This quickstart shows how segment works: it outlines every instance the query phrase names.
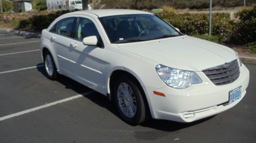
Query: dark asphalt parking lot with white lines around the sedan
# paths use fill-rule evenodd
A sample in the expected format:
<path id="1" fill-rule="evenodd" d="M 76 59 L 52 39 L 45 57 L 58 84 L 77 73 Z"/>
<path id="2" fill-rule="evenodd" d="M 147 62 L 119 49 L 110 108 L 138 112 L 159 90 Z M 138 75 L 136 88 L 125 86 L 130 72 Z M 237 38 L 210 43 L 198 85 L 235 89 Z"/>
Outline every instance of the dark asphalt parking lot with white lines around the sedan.
<path id="1" fill-rule="evenodd" d="M 256 142 L 256 65 L 246 66 L 247 94 L 232 109 L 130 126 L 99 93 L 64 76 L 49 80 L 38 38 L 0 34 L 0 142 Z"/>

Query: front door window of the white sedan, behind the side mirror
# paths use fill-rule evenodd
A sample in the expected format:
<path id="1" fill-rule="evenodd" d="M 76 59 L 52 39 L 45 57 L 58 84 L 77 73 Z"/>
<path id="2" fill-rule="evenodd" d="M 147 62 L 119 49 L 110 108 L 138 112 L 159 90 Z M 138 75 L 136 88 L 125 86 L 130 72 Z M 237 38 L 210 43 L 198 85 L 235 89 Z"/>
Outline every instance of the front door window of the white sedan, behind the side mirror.
<path id="1" fill-rule="evenodd" d="M 86 18 L 79 18 L 76 26 L 75 39 L 82 41 L 84 37 L 96 36 L 100 39 L 98 30 L 94 23 Z"/>

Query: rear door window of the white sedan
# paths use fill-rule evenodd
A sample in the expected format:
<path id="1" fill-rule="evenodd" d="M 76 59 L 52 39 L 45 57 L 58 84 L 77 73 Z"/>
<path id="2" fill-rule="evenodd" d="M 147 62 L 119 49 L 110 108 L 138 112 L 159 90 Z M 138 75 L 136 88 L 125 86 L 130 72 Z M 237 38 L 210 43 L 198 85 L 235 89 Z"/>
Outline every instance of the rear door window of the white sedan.
<path id="1" fill-rule="evenodd" d="M 71 37 L 75 17 L 65 18 L 58 22 L 57 34 Z"/>

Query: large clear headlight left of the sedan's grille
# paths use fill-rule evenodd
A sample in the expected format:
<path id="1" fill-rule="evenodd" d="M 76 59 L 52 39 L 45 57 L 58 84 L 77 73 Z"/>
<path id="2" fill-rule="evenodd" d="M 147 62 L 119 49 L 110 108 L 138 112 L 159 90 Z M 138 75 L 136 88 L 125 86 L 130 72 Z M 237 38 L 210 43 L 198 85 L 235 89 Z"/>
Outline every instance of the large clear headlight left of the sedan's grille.
<path id="1" fill-rule="evenodd" d="M 160 78 L 169 86 L 175 89 L 185 89 L 191 84 L 201 83 L 201 78 L 192 71 L 178 70 L 174 68 L 157 65 L 156 71 Z"/>

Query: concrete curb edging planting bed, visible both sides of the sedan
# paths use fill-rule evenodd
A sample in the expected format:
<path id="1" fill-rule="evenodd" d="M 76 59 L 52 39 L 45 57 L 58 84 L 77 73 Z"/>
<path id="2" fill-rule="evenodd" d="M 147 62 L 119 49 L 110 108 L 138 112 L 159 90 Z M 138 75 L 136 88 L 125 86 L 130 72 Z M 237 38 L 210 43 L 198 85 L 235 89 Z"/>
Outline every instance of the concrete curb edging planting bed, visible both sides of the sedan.
<path id="1" fill-rule="evenodd" d="M 0 33 L 2 34 L 17 34 L 20 36 L 30 37 L 30 38 L 39 38 L 41 36 L 40 33 L 32 33 L 26 31 L 16 31 L 5 28 L 0 28 Z M 256 57 L 251 56 L 240 56 L 242 63 L 244 64 L 256 64 Z"/>

